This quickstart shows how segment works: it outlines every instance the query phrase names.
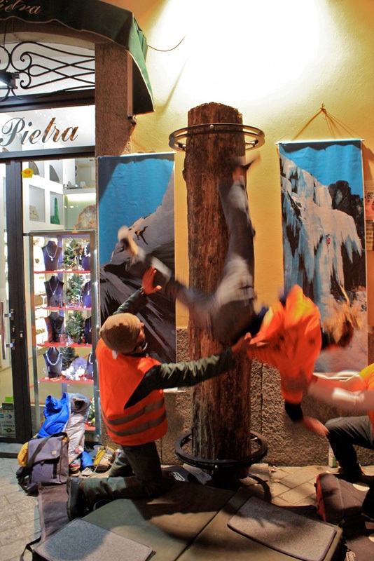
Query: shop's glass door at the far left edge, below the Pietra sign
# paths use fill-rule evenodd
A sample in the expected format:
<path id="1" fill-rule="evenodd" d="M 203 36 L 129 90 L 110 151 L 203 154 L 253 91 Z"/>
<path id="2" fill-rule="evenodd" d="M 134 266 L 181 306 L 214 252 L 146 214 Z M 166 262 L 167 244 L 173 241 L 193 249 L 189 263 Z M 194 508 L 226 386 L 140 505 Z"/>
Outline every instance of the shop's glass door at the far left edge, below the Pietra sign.
<path id="1" fill-rule="evenodd" d="M 0 441 L 24 442 L 32 435 L 27 372 L 26 308 L 23 286 L 21 164 L 0 165 L 1 369 Z"/>

